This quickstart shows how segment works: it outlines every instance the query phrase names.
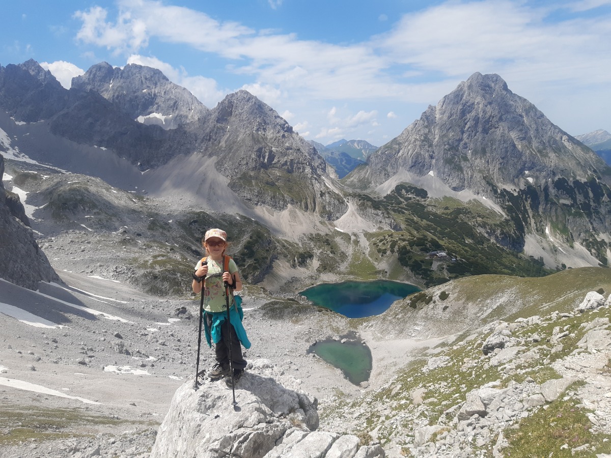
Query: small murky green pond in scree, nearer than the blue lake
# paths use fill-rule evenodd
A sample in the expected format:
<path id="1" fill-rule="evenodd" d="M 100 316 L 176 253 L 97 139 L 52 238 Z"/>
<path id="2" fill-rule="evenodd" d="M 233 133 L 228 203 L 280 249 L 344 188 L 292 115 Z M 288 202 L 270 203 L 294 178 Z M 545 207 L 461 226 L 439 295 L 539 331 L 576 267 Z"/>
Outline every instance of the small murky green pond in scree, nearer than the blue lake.
<path id="1" fill-rule="evenodd" d="M 354 332 L 340 336 L 340 340 L 329 338 L 318 341 L 310 346 L 308 353 L 318 355 L 327 363 L 340 369 L 346 379 L 354 385 L 369 380 L 371 375 L 373 364 L 371 351 Z"/>

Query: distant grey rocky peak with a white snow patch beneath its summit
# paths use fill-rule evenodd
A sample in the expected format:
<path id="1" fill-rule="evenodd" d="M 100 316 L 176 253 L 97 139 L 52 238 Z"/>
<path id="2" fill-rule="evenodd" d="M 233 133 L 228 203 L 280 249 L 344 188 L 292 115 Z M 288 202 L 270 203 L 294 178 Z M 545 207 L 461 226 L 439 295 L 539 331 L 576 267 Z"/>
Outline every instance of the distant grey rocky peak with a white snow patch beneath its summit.
<path id="1" fill-rule="evenodd" d="M 197 122 L 208 112 L 184 87 L 171 82 L 160 70 L 142 65 L 119 68 L 101 62 L 73 78 L 72 87 L 97 92 L 133 120 L 164 129 Z"/>

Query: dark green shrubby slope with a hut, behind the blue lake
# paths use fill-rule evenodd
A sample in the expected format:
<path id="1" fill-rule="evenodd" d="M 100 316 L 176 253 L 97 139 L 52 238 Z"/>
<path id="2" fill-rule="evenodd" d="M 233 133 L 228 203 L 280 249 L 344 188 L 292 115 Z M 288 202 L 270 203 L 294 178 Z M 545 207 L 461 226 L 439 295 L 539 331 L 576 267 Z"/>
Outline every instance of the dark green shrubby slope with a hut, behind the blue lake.
<path id="1" fill-rule="evenodd" d="M 513 218 L 504 218 L 475 200 L 425 198 L 426 191 L 406 184 L 398 185 L 382 200 L 358 197 L 403 228 L 376 234 L 370 239 L 372 251 L 381 260 L 396 256 L 400 266 L 425 286 L 467 275 L 541 277 L 552 273 L 541 259 L 521 255 L 525 243 L 522 217 L 528 217 L 522 206 L 510 212 Z"/>

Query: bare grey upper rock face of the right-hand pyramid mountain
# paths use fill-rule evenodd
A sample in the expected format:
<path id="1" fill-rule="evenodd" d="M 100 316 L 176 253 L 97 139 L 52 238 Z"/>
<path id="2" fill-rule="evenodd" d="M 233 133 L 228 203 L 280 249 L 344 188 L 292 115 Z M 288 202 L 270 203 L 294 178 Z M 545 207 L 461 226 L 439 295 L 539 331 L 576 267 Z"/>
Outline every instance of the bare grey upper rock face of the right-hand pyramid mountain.
<path id="1" fill-rule="evenodd" d="M 552 124 L 498 75 L 475 73 L 430 106 L 369 161 L 374 183 L 403 168 L 433 172 L 453 190 L 516 189 L 558 175 L 587 181 L 606 172 L 588 148 Z"/>

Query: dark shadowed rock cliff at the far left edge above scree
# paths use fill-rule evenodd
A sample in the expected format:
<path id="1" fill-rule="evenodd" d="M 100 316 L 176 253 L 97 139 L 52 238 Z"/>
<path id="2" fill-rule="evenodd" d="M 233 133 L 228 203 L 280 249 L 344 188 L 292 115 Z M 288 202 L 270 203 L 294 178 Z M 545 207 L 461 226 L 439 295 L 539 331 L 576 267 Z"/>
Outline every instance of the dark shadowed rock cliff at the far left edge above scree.
<path id="1" fill-rule="evenodd" d="M 0 154 L 2 175 L 4 158 Z M 19 198 L 16 195 L 7 198 L 0 180 L 0 278 L 29 289 L 36 289 L 40 281 L 61 282 L 23 219 L 27 217 Z"/>

